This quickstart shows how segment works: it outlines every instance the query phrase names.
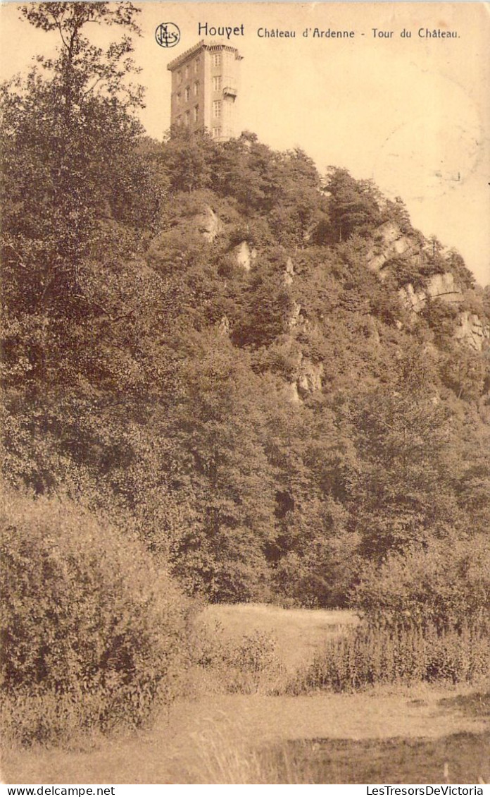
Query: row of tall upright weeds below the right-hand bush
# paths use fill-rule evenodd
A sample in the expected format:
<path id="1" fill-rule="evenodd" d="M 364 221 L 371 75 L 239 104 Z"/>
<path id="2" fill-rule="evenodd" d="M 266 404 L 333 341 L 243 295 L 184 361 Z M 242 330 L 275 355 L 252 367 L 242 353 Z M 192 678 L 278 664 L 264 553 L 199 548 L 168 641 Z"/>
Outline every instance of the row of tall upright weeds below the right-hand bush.
<path id="1" fill-rule="evenodd" d="M 379 684 L 420 681 L 479 681 L 490 674 L 490 638 L 465 629 L 438 633 L 422 629 L 360 627 L 333 640 L 289 685 L 294 693 L 311 689 L 348 692 Z"/>

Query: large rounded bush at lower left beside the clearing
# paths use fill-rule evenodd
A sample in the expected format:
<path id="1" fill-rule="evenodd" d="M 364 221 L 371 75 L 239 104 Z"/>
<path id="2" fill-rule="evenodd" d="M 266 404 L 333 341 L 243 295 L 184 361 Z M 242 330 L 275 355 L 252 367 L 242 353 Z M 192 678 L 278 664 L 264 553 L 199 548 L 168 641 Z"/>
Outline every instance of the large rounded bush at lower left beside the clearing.
<path id="1" fill-rule="evenodd" d="M 7 733 L 29 743 L 138 727 L 178 692 L 189 603 L 138 541 L 90 512 L 1 499 Z"/>

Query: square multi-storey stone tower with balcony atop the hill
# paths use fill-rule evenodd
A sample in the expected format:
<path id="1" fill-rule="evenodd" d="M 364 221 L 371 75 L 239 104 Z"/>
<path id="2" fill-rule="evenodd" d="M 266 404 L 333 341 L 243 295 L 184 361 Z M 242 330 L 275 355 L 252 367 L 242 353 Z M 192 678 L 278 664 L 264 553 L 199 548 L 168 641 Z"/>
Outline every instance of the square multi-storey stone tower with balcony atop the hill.
<path id="1" fill-rule="evenodd" d="M 238 50 L 220 41 L 200 41 L 170 61 L 170 124 L 182 125 L 191 132 L 208 130 L 217 141 L 239 135 L 240 61 Z"/>

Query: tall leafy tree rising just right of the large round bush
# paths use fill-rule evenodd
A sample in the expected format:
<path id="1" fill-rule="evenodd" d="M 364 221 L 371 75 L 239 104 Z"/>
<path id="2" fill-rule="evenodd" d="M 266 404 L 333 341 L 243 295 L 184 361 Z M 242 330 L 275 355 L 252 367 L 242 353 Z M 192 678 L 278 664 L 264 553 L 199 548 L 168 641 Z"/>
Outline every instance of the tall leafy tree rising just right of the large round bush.
<path id="1" fill-rule="evenodd" d="M 212 601 L 263 599 L 274 473 L 263 445 L 261 383 L 219 333 L 198 346 L 179 371 L 177 406 L 154 418 L 165 441 L 162 479 L 194 519 L 171 541 L 173 572 Z"/>

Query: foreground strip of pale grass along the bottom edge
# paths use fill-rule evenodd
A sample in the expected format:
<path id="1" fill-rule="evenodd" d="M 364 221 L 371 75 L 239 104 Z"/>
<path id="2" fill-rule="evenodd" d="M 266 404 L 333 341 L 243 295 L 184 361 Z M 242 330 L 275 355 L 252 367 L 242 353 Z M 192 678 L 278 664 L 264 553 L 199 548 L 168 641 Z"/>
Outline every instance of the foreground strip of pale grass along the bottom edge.
<path id="1" fill-rule="evenodd" d="M 431 770 L 434 779 L 428 782 L 441 782 L 439 764 L 445 760 L 453 777 L 463 765 L 466 772 L 472 764 L 470 781 L 476 782 L 480 775 L 487 779 L 480 766 L 488 752 L 483 736 L 488 732 L 486 717 L 463 711 L 458 701 L 472 701 L 471 693 L 417 687 L 399 693 L 375 689 L 301 697 L 235 694 L 177 701 L 151 731 L 101 740 L 92 749 L 8 750 L 4 779 L 10 783 L 379 783 L 395 753 L 399 761 L 409 756 L 411 769 L 401 769 L 407 779 L 394 782 L 420 782 L 417 771 L 428 771 L 432 760 L 438 763 Z M 461 756 L 452 741 L 457 738 L 467 740 L 461 743 Z M 449 753 L 452 757 L 445 757 Z M 323 766 L 324 757 L 329 767 Z M 356 762 L 350 775 L 349 760 Z M 373 761 L 378 769 L 373 779 L 364 779 Z M 344 781 L 347 776 L 352 779 Z"/>

